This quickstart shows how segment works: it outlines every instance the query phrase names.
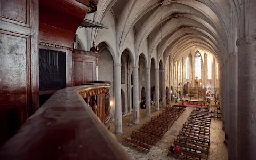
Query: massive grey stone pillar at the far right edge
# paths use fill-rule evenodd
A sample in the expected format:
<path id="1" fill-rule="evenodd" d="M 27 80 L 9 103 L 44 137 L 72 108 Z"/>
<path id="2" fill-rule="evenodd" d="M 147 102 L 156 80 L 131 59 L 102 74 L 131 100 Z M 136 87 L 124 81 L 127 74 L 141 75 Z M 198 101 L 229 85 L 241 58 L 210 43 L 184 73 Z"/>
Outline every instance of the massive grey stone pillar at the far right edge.
<path id="1" fill-rule="evenodd" d="M 237 159 L 249 160 L 256 151 L 256 35 L 238 39 L 237 47 Z"/>

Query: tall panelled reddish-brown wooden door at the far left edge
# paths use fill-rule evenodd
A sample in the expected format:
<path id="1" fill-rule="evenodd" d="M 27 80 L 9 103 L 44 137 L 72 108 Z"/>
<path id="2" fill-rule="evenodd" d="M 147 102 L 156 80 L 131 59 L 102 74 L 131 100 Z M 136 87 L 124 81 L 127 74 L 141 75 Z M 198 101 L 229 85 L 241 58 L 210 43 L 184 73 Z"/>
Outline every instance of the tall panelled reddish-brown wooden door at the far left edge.
<path id="1" fill-rule="evenodd" d="M 0 0 L 0 146 L 39 107 L 38 0 Z"/>

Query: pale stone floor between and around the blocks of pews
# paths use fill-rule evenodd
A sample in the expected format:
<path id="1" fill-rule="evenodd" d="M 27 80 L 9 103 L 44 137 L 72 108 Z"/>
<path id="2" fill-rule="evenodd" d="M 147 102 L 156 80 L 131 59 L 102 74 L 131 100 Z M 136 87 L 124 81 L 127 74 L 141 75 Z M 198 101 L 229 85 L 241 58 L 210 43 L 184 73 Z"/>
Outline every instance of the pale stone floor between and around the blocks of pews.
<path id="1" fill-rule="evenodd" d="M 113 133 L 113 137 L 121 144 L 122 148 L 127 151 L 132 159 L 141 160 L 159 160 L 159 159 L 174 159 L 167 156 L 168 147 L 174 142 L 176 135 L 179 134 L 181 127 L 186 122 L 187 117 L 190 115 L 192 107 L 188 107 L 182 115 L 177 119 L 177 121 L 171 126 L 171 128 L 164 134 L 163 138 L 156 143 L 156 145 L 150 149 L 149 152 L 142 151 L 140 149 L 134 148 L 132 146 L 123 143 L 123 138 L 130 138 L 132 131 L 137 131 L 137 129 L 144 123 L 150 121 L 151 117 L 156 116 L 160 111 L 151 111 L 151 117 L 146 116 L 146 109 L 140 109 L 140 123 L 132 124 L 133 114 L 126 115 L 122 118 L 122 135 L 115 135 L 115 123 L 113 122 L 110 127 L 110 132 Z M 130 125 L 132 124 L 132 125 Z M 224 132 L 222 130 L 222 121 L 219 119 L 213 119 L 211 121 L 210 130 L 210 154 L 209 160 L 226 160 L 228 159 L 228 150 L 224 145 Z"/>

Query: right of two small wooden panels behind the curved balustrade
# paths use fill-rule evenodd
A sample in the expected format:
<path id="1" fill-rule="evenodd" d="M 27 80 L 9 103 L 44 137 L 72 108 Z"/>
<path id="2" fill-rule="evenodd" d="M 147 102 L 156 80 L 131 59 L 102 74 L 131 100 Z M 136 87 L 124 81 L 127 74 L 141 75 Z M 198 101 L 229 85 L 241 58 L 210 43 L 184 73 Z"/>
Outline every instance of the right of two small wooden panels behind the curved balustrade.
<path id="1" fill-rule="evenodd" d="M 93 82 L 93 75 L 95 74 L 94 68 L 96 68 L 96 66 L 93 64 L 93 62 L 84 62 L 84 83 Z"/>

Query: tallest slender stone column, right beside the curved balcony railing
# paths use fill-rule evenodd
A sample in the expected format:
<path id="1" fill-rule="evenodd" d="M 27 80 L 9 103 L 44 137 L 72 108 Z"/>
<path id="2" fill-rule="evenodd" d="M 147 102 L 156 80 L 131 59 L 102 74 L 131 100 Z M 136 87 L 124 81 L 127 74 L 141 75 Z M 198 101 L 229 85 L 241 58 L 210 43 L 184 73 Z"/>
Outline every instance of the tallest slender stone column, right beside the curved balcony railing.
<path id="1" fill-rule="evenodd" d="M 122 134 L 121 64 L 114 65 L 115 133 Z"/>

